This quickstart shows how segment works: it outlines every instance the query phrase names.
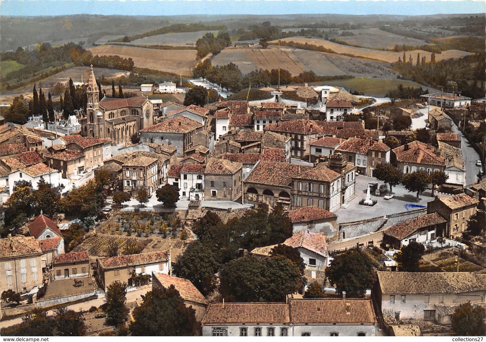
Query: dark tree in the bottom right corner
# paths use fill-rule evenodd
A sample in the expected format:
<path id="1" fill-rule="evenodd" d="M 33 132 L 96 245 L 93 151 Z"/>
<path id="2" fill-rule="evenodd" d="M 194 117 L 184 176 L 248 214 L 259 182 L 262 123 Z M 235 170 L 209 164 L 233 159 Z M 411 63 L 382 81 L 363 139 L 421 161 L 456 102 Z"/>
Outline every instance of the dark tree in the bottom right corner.
<path id="1" fill-rule="evenodd" d="M 485 309 L 481 305 L 461 304 L 452 315 L 451 326 L 454 336 L 486 335 Z"/>

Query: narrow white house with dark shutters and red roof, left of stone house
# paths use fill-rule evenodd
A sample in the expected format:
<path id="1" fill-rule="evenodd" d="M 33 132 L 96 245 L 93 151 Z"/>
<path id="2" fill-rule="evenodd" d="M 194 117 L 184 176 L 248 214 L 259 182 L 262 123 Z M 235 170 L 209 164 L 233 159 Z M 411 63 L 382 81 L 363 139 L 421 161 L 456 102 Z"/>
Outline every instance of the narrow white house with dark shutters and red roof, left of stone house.
<path id="1" fill-rule="evenodd" d="M 204 170 L 206 165 L 184 164 L 180 171 L 179 198 L 204 200 Z"/>

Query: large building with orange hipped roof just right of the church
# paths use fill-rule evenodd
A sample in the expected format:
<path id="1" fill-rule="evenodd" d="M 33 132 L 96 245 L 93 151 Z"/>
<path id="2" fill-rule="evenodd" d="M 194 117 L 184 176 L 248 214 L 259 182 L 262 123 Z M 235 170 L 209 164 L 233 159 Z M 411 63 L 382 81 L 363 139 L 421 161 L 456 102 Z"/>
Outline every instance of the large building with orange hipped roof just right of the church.
<path id="1" fill-rule="evenodd" d="M 171 144 L 177 147 L 177 156 L 192 146 L 192 136 L 203 130 L 203 125 L 184 116 L 174 117 L 140 130 L 140 141 Z"/>

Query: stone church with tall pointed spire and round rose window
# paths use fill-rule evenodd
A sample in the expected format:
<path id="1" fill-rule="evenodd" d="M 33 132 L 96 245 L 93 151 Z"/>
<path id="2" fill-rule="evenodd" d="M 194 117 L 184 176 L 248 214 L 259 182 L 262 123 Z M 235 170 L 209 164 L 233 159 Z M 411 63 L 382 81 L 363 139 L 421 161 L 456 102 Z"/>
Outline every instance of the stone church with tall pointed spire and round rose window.
<path id="1" fill-rule="evenodd" d="M 130 142 L 140 129 L 154 124 L 154 106 L 144 96 L 99 100 L 99 88 L 91 65 L 87 83 L 87 113 L 81 118 L 81 135 L 108 138 L 111 143 Z"/>

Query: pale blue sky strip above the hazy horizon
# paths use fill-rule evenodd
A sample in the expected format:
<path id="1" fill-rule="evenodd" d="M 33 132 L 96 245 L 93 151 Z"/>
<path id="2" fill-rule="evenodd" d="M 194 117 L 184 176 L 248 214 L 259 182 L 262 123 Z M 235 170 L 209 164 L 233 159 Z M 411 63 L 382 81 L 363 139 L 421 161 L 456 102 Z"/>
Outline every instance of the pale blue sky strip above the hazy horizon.
<path id="1" fill-rule="evenodd" d="M 3 16 L 195 14 L 392 14 L 485 13 L 483 0 L 1 0 Z"/>

